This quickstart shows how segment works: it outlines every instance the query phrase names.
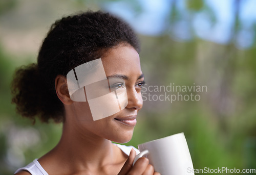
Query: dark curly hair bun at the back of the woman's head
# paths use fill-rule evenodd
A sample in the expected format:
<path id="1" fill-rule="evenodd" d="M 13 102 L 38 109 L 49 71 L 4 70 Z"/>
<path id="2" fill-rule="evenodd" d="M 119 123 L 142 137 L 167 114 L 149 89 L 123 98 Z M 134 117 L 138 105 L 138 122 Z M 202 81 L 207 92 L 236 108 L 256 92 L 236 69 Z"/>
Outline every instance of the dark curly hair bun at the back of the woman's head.
<path id="1" fill-rule="evenodd" d="M 35 121 L 38 116 L 41 121 L 48 122 L 50 118 L 61 121 L 62 118 L 52 117 L 46 102 L 51 102 L 51 94 L 46 90 L 44 81 L 40 77 L 37 64 L 30 64 L 18 68 L 12 81 L 12 103 L 16 104 L 17 112 Z M 51 111 L 53 112 L 53 111 Z"/>

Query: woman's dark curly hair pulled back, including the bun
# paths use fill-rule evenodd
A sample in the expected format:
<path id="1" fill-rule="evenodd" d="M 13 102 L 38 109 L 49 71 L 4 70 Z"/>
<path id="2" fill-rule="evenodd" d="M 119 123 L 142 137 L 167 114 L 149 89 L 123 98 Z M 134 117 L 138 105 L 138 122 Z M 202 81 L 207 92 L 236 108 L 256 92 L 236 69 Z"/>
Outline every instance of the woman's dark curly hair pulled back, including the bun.
<path id="1" fill-rule="evenodd" d="M 74 67 L 100 58 L 118 44 L 130 44 L 139 53 L 132 28 L 121 19 L 103 12 L 88 11 L 63 17 L 52 24 L 41 45 L 37 64 L 20 67 L 12 82 L 12 103 L 22 116 L 42 122 L 65 119 L 54 81 Z"/>

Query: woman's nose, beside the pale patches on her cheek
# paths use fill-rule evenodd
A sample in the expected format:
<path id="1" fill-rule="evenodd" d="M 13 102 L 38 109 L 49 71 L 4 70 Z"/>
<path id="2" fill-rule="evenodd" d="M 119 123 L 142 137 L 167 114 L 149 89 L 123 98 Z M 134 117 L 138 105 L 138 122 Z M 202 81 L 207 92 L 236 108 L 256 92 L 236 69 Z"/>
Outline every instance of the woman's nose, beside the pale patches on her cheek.
<path id="1" fill-rule="evenodd" d="M 135 88 L 126 89 L 127 90 L 127 98 L 128 104 L 126 108 L 133 108 L 135 110 L 140 110 L 143 106 L 143 100 L 141 96 L 141 92 L 137 91 Z"/>

